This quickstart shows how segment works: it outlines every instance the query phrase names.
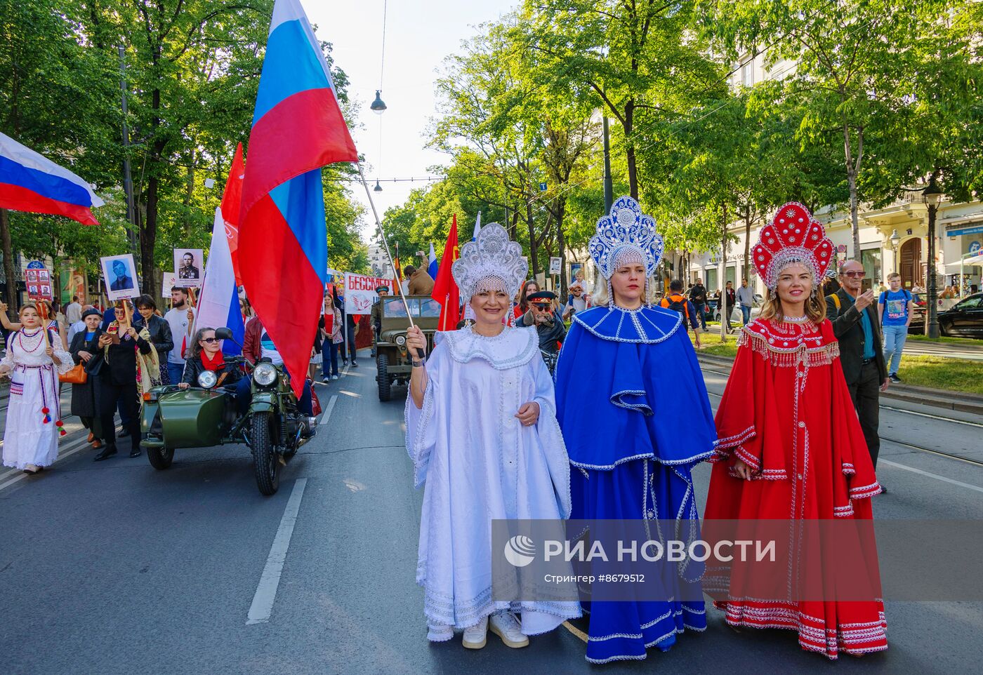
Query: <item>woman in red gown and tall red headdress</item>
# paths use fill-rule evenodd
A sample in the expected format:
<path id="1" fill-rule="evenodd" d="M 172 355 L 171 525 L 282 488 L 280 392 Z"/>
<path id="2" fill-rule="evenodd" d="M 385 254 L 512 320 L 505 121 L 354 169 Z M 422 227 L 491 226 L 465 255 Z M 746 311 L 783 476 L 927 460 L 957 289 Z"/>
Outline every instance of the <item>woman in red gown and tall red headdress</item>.
<path id="1" fill-rule="evenodd" d="M 759 537 L 784 528 L 791 553 L 776 568 L 708 562 L 704 579 L 731 627 L 792 629 L 830 658 L 888 648 L 876 544 L 863 534 L 881 486 L 819 292 L 834 252 L 799 203 L 781 207 L 753 250 L 768 298 L 737 341 L 705 518 Z"/>

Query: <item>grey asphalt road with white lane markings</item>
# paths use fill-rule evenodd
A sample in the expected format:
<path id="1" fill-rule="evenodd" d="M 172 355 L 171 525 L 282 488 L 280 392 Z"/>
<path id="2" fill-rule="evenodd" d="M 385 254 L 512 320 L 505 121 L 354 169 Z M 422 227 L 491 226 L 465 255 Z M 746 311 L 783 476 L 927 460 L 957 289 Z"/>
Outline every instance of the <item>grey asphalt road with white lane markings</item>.
<path id="1" fill-rule="evenodd" d="M 735 634 L 713 609 L 706 633 L 600 667 L 564 628 L 525 649 L 430 645 L 403 401 L 379 403 L 361 363 L 318 385 L 326 419 L 272 497 L 243 446 L 178 451 L 156 472 L 125 453 L 93 463 L 77 428 L 51 471 L 0 474 L 0 674 L 978 672 L 979 602 L 891 602 L 889 650 L 836 666 L 791 632 Z M 714 405 L 725 376 L 706 371 Z M 876 516 L 983 519 L 979 421 L 890 405 Z M 701 505 L 709 475 L 696 470 Z"/>

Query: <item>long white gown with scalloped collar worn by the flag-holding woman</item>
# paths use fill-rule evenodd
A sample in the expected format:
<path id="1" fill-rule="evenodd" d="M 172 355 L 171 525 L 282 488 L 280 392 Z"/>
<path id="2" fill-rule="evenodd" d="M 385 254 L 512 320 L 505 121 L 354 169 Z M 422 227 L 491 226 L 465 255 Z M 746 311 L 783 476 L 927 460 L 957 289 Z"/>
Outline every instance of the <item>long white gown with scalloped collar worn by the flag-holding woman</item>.
<path id="1" fill-rule="evenodd" d="M 470 328 L 440 334 L 427 362 L 423 409 L 407 397 L 406 447 L 414 482 L 427 482 L 417 583 L 432 626 L 462 629 L 503 609 L 537 635 L 580 616 L 561 599 L 492 599 L 492 520 L 564 519 L 570 469 L 556 422 L 553 383 L 535 328 L 483 337 Z M 522 404 L 540 405 L 523 426 Z M 449 636 L 448 636 L 449 637 Z"/>

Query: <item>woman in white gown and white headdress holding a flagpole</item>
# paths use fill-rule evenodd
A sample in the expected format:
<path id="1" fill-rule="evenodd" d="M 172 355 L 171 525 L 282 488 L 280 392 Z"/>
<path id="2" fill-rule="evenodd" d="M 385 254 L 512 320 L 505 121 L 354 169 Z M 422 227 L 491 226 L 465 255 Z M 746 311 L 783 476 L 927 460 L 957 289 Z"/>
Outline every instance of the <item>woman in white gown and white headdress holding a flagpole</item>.
<path id="1" fill-rule="evenodd" d="M 452 268 L 474 325 L 440 333 L 426 365 L 425 336 L 416 326 L 407 334 L 406 447 L 415 484 L 427 481 L 417 583 L 434 642 L 463 629 L 464 647 L 485 647 L 491 627 L 508 647 L 525 647 L 528 636 L 580 616 L 576 601 L 492 596 L 492 520 L 570 512 L 569 464 L 536 329 L 502 324 L 528 269 L 504 228 L 486 225 Z"/>

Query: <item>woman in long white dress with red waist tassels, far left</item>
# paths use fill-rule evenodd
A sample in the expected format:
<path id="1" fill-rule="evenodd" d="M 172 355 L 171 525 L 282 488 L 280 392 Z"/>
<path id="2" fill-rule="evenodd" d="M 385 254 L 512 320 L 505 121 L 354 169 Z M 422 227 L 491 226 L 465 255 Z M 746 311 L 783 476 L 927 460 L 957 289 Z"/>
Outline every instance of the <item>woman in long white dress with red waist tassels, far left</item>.
<path id="1" fill-rule="evenodd" d="M 58 401 L 58 375 L 72 369 L 54 329 L 45 339 L 37 308 L 21 308 L 21 329 L 7 339 L 0 375 L 10 375 L 10 403 L 3 436 L 5 467 L 36 474 L 58 458 L 58 436 L 64 435 Z"/>

